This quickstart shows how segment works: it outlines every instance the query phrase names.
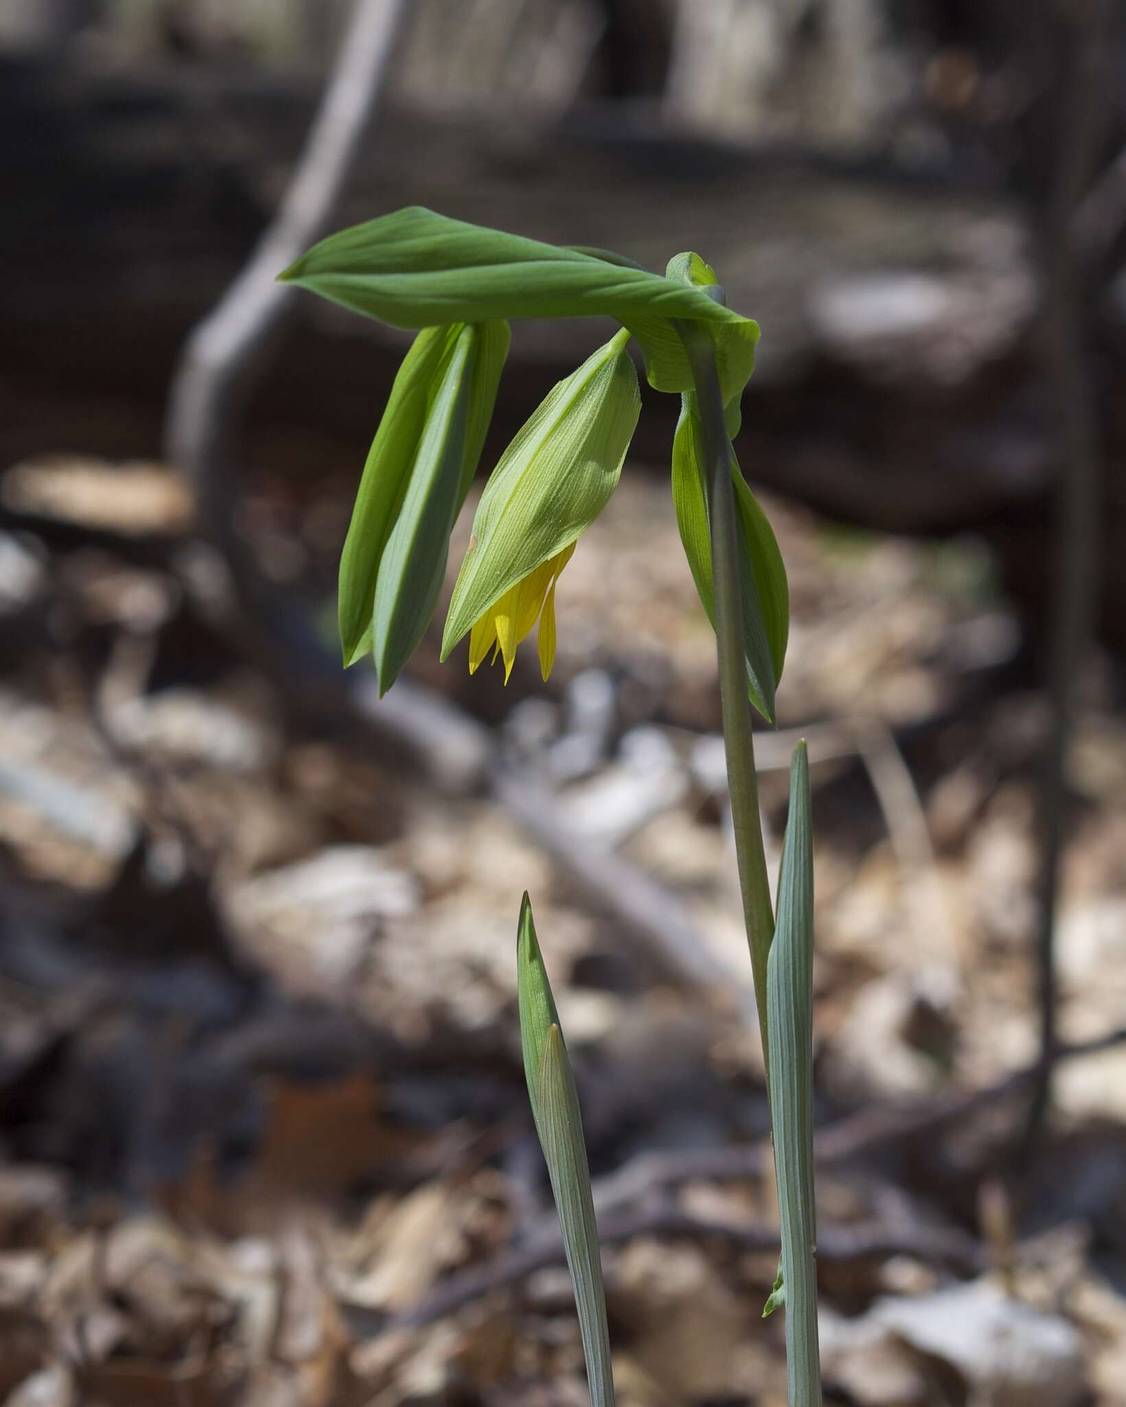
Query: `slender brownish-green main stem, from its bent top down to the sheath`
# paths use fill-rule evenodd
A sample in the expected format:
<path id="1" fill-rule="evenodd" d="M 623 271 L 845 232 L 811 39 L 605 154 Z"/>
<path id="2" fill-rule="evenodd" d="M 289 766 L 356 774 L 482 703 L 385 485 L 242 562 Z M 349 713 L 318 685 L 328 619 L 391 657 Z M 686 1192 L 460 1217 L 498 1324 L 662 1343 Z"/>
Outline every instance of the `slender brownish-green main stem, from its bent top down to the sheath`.
<path id="1" fill-rule="evenodd" d="M 775 933 L 770 884 L 762 848 L 759 784 L 755 774 L 755 739 L 751 732 L 751 701 L 746 691 L 746 653 L 742 625 L 742 588 L 735 522 L 735 490 L 731 483 L 731 440 L 724 422 L 724 402 L 716 370 L 716 343 L 699 325 L 678 322 L 685 343 L 696 400 L 700 409 L 708 525 L 711 529 L 711 577 L 716 592 L 716 644 L 720 658 L 720 706 L 727 756 L 727 787 L 735 830 L 742 913 L 751 947 L 755 1002 L 759 1012 L 762 1057 L 770 1064 L 766 1024 L 766 958 Z"/>

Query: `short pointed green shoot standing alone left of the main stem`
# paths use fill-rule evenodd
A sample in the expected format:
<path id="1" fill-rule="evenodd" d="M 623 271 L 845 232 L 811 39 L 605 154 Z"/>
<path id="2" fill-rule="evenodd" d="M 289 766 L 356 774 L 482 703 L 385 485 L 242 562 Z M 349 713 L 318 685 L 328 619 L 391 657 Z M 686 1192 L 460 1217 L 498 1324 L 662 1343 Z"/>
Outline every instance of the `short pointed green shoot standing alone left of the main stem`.
<path id="1" fill-rule="evenodd" d="M 575 1290 L 590 1401 L 593 1407 L 613 1407 L 606 1290 L 579 1097 L 527 895 L 520 906 L 516 972 L 524 1075 Z"/>

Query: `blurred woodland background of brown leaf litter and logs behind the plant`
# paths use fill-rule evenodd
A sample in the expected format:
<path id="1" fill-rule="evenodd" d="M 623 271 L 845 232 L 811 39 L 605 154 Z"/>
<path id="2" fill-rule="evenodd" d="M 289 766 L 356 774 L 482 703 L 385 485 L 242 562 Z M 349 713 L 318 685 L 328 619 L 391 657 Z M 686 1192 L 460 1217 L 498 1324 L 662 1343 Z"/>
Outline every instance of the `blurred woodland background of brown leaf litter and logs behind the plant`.
<path id="1" fill-rule="evenodd" d="M 526 888 L 621 1401 L 784 1401 L 675 398 L 642 387 L 550 684 L 439 666 L 443 611 L 382 704 L 336 663 L 408 343 L 271 280 L 413 203 L 694 249 L 762 324 L 737 449 L 791 592 L 772 871 L 813 761 L 829 1400 L 1123 1401 L 1119 20 L 3 0 L 0 1401 L 578 1407 Z M 515 329 L 485 470 L 604 335 Z"/>

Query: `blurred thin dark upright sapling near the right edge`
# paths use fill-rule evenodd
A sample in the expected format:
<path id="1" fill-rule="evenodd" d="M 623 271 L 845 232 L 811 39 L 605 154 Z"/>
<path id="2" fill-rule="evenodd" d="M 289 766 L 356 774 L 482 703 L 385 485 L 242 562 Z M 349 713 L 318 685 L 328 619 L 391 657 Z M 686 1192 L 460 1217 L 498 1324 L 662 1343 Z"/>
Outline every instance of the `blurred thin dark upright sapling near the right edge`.
<path id="1" fill-rule="evenodd" d="M 1064 844 L 1067 753 L 1074 723 L 1077 675 L 1092 636 L 1096 605 L 1099 426 L 1084 329 L 1080 208 L 1095 172 L 1106 120 L 1106 0 L 1081 0 L 1068 11 L 1073 63 L 1064 93 L 1056 174 L 1044 234 L 1044 370 L 1057 418 L 1060 536 L 1051 597 L 1049 704 L 1051 720 L 1040 784 L 1040 871 L 1036 955 L 1040 1050 L 1056 1045 L 1056 910 Z M 1039 1137 L 1051 1092 L 1046 1061 L 1033 1085 L 1025 1150 Z"/>

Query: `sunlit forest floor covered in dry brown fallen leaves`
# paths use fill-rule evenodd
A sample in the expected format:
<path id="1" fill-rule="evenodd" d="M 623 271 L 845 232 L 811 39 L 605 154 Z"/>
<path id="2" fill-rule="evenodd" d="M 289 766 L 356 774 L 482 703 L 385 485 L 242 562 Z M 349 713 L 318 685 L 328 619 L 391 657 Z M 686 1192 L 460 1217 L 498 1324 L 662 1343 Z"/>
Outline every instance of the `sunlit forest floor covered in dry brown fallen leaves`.
<path id="1" fill-rule="evenodd" d="M 323 584 L 347 497 L 252 485 L 261 568 Z M 531 647 L 505 691 L 423 646 L 416 681 L 489 729 L 470 788 L 378 711 L 295 718 L 216 625 L 162 466 L 14 466 L 0 505 L 0 1401 L 578 1407 L 516 1027 L 529 889 L 619 1399 L 783 1403 L 713 640 L 662 476 L 627 466 L 579 545 L 548 687 Z M 1120 681 L 1087 681 L 1059 930 L 1061 1037 L 1098 1048 L 1022 1151 L 1035 650 L 974 540 L 766 507 L 793 622 L 758 734 L 772 868 L 797 736 L 813 761 L 831 1400 L 1120 1403 Z"/>

